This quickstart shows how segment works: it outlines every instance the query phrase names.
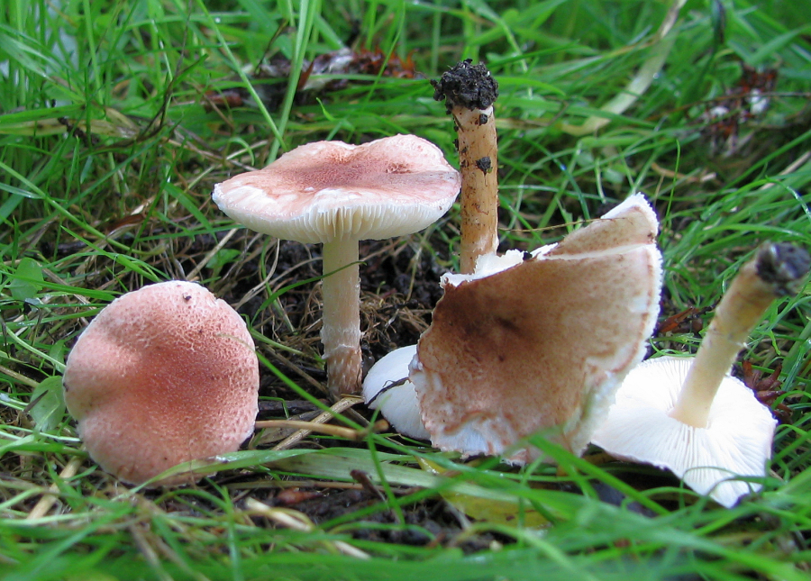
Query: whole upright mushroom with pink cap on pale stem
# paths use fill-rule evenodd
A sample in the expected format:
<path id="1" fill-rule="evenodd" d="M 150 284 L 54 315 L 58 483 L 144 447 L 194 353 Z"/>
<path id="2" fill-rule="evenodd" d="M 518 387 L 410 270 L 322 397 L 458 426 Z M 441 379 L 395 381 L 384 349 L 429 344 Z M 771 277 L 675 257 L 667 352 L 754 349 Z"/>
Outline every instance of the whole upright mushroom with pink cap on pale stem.
<path id="1" fill-rule="evenodd" d="M 214 186 L 214 202 L 251 230 L 323 242 L 321 340 L 331 393 L 360 392 L 358 242 L 420 231 L 459 194 L 459 173 L 429 141 L 396 135 L 354 146 L 319 141 Z"/>

